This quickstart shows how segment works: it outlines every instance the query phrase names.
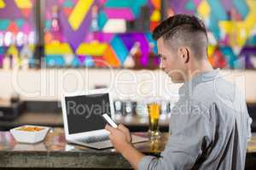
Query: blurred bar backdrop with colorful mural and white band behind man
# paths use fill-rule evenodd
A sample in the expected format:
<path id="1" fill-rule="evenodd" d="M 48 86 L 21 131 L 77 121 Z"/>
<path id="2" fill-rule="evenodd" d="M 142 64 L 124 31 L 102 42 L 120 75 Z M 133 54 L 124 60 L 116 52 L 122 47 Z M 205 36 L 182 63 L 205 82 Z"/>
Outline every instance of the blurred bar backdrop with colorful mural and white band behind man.
<path id="1" fill-rule="evenodd" d="M 154 98 L 167 130 L 180 84 L 160 71 L 151 31 L 182 13 L 204 20 L 208 58 L 244 92 L 255 130 L 255 9 L 255 0 L 0 0 L 0 128 L 61 127 L 64 92 L 109 88 L 119 122 L 145 130 L 138 108 Z"/>

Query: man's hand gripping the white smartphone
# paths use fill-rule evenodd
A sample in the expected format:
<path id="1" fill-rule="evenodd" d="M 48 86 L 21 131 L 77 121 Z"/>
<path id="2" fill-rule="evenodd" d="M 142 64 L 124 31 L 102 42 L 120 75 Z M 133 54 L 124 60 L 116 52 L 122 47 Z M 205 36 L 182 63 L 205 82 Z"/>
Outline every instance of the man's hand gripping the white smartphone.
<path id="1" fill-rule="evenodd" d="M 117 128 L 110 127 L 106 125 L 106 130 L 110 132 L 109 139 L 113 144 L 113 147 L 122 153 L 125 147 L 131 145 L 131 134 L 127 127 L 122 124 L 119 124 Z"/>

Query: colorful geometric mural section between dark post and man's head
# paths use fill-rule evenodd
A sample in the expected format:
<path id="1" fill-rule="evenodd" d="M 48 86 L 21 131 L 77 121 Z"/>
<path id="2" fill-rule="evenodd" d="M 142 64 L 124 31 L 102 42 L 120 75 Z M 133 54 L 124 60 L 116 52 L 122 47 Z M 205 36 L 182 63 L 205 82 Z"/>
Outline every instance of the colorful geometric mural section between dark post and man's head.
<path id="1" fill-rule="evenodd" d="M 51 24 L 55 6 L 59 11 L 61 37 L 58 40 L 54 38 L 57 32 L 52 31 Z M 145 6 L 150 17 L 148 31 L 109 32 L 108 27 L 113 26 L 113 22 L 115 26 L 125 23 L 128 27 L 127 24 L 137 20 L 141 25 L 141 8 Z M 155 43 L 150 30 L 160 22 L 160 0 L 48 0 L 45 18 L 45 62 L 49 66 L 102 67 L 107 62 L 112 67 L 125 67 L 131 48 L 135 42 L 140 42 L 141 64 L 146 67 L 149 42 Z"/>

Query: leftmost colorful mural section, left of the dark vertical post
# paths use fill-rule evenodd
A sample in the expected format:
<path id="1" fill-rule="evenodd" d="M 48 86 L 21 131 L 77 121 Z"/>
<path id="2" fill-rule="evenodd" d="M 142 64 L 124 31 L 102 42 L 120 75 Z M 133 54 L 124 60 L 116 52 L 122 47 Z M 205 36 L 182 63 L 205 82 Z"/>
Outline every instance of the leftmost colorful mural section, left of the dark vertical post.
<path id="1" fill-rule="evenodd" d="M 32 57 L 35 42 L 33 4 L 33 0 L 0 0 L 0 67 L 4 55 L 20 59 Z"/>

